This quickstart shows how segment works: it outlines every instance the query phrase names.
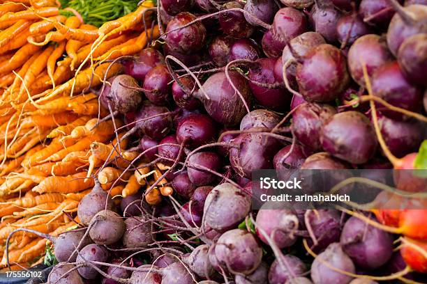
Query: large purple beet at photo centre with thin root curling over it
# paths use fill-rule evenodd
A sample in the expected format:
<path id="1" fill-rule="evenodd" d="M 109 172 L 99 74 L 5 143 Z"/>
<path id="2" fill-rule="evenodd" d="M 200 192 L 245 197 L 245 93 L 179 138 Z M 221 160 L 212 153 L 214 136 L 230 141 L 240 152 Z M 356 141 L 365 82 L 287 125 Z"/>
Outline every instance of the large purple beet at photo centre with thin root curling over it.
<path id="1" fill-rule="evenodd" d="M 240 91 L 248 106 L 250 106 L 252 94 L 250 93 L 248 81 L 237 71 L 231 70 L 229 74 L 232 83 Z M 197 93 L 197 98 L 202 100 L 204 109 L 206 109 L 211 118 L 227 126 L 240 123 L 241 118 L 246 114 L 246 108 L 239 95 L 232 88 L 225 72 L 211 75 L 202 87 L 209 99 L 204 97 L 201 91 Z"/>

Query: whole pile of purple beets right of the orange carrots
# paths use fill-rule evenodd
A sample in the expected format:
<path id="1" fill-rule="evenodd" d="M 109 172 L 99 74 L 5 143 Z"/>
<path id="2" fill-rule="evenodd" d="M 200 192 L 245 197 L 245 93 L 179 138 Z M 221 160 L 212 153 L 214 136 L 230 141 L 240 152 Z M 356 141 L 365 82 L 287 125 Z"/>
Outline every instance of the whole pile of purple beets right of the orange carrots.
<path id="1" fill-rule="evenodd" d="M 253 210 L 250 179 L 416 168 L 426 0 L 159 0 L 155 17 L 162 36 L 119 60 L 100 102 L 174 193 L 116 207 L 96 184 L 47 283 L 425 283 L 427 210 Z"/>

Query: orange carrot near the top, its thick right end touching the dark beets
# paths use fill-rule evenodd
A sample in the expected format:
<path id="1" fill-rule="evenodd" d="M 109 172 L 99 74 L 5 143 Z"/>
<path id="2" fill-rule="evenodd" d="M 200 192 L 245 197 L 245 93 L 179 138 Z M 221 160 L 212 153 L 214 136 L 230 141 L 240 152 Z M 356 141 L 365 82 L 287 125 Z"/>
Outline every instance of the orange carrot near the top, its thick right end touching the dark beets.
<path id="1" fill-rule="evenodd" d="M 155 40 L 160 36 L 158 26 L 154 26 L 152 30 L 147 30 L 147 33 Z M 120 56 L 137 54 L 142 49 L 144 49 L 145 45 L 147 45 L 147 33 L 142 32 L 141 35 L 135 40 L 129 40 L 128 42 L 123 43 L 121 46 L 110 49 L 107 53 L 103 54 L 103 56 L 96 58 L 96 60 L 102 61 L 105 59 L 115 59 L 119 58 Z"/>

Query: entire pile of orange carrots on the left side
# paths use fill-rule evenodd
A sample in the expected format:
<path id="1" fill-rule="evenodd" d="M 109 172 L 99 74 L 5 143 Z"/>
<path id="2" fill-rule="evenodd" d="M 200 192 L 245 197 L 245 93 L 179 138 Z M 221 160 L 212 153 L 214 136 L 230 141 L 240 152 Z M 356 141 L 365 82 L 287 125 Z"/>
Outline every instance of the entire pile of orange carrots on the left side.
<path id="1" fill-rule="evenodd" d="M 154 166 L 117 180 L 135 155 L 114 154 L 112 145 L 121 136 L 115 127 L 123 123 L 97 125 L 107 111 L 94 93 L 121 72 L 112 60 L 137 54 L 158 38 L 157 26 L 144 29 L 151 26 L 152 7 L 145 1 L 96 28 L 78 13 L 61 15 L 66 8 L 58 1 L 0 0 L 1 266 L 6 266 L 6 238 L 15 228 L 58 235 L 76 226 L 79 220 L 70 213 L 93 187 L 91 174 L 101 166 L 98 177 L 112 196 L 133 194 L 150 175 L 161 175 Z M 121 149 L 126 146 L 124 139 Z M 156 204 L 160 194 L 153 194 Z M 13 268 L 42 261 L 46 242 L 26 232 L 13 235 Z"/>

